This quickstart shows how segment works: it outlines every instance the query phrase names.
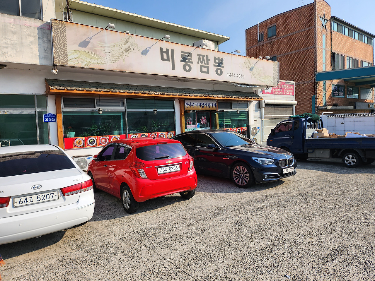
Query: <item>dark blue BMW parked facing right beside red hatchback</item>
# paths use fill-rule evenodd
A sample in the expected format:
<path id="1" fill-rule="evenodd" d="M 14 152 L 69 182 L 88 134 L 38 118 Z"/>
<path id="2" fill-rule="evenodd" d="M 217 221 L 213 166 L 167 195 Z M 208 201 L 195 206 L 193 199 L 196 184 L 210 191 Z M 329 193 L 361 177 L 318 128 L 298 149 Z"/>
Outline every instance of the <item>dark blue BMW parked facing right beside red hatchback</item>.
<path id="1" fill-rule="evenodd" d="M 175 136 L 194 158 L 197 173 L 231 178 L 238 187 L 296 175 L 296 160 L 283 149 L 258 145 L 229 130 L 199 130 Z"/>

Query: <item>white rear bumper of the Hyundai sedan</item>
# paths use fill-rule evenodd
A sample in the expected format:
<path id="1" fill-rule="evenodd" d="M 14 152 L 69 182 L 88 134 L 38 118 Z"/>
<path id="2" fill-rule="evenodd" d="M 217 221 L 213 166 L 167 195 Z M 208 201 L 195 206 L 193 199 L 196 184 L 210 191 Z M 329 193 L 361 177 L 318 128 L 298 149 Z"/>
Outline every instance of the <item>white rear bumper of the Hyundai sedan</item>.
<path id="1" fill-rule="evenodd" d="M 78 202 L 53 209 L 0 218 L 0 245 L 68 229 L 90 220 L 94 213 L 93 190 Z"/>

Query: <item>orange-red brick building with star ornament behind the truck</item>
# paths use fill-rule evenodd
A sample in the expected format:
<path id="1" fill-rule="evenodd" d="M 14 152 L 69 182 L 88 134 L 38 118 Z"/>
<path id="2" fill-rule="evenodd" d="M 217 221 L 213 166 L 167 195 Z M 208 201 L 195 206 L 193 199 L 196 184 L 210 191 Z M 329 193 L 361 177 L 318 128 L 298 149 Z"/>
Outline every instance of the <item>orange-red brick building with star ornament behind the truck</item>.
<path id="1" fill-rule="evenodd" d="M 247 56 L 270 56 L 280 63 L 280 79 L 296 82 L 296 114 L 369 112 L 356 109 L 356 103 L 374 102 L 373 85 L 358 86 L 348 79 L 315 80 L 317 72 L 374 68 L 375 36 L 331 16 L 326 1 L 280 13 L 245 32 Z"/>

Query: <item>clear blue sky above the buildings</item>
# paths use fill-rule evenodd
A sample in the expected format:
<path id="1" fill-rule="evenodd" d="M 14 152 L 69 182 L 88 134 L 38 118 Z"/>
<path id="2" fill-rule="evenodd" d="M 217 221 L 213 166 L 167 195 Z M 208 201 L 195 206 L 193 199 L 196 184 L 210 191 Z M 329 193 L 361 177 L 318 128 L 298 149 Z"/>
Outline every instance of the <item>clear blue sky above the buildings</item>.
<path id="1" fill-rule="evenodd" d="M 258 21 L 314 2 L 313 0 L 84 0 L 161 21 L 229 36 L 219 51 L 245 55 L 245 30 Z M 327 0 L 331 15 L 375 34 L 374 0 Z M 267 54 L 263 54 L 266 56 Z"/>

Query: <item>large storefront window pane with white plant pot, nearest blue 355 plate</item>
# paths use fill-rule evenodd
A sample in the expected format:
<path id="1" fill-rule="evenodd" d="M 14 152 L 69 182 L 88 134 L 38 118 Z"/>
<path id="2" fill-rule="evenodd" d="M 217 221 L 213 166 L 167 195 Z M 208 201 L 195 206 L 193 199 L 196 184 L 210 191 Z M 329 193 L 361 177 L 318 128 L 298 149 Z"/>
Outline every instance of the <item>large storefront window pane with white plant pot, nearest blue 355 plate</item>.
<path id="1" fill-rule="evenodd" d="M 65 138 L 122 135 L 125 112 L 64 112 L 63 124 Z"/>

